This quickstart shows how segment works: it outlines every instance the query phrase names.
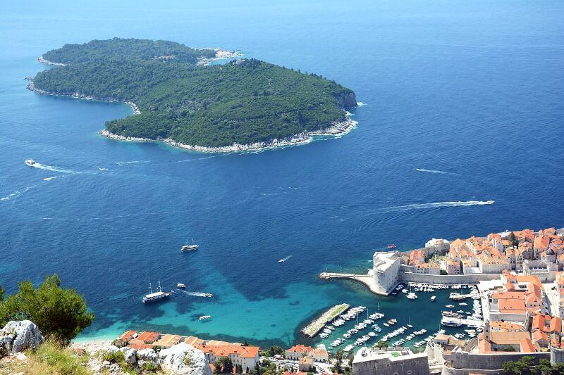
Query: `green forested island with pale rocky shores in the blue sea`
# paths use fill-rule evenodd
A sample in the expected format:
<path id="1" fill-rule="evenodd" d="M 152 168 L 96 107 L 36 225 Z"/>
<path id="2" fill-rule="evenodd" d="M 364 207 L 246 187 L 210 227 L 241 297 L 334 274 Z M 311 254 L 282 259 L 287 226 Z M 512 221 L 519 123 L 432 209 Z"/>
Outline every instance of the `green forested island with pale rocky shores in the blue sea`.
<path id="1" fill-rule="evenodd" d="M 206 65 L 236 53 L 147 39 L 66 44 L 39 58 L 54 68 L 29 88 L 123 101 L 134 114 L 106 122 L 116 139 L 162 140 L 200 151 L 237 151 L 341 134 L 355 93 L 334 81 L 255 59 Z"/>

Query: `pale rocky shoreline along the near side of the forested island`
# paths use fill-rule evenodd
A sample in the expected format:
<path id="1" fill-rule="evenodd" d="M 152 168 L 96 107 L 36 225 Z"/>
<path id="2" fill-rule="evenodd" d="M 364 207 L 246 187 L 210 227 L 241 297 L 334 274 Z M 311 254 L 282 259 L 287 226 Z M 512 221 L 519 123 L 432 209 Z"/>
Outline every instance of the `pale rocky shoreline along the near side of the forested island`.
<path id="1" fill-rule="evenodd" d="M 154 142 L 161 141 L 170 146 L 184 148 L 190 151 L 199 151 L 204 153 L 233 153 L 233 152 L 257 152 L 264 151 L 273 148 L 286 147 L 286 146 L 298 146 L 302 144 L 309 144 L 313 141 L 316 136 L 333 136 L 339 137 L 344 134 L 348 134 L 353 128 L 356 127 L 358 122 L 350 118 L 350 113 L 347 113 L 347 118 L 342 122 L 334 122 L 331 127 L 323 130 L 317 130 L 315 132 L 302 132 L 300 134 L 295 134 L 283 139 L 273 139 L 269 142 L 256 142 L 254 144 L 233 144 L 231 146 L 221 146 L 221 147 L 206 147 L 197 146 L 190 144 L 183 144 L 178 141 L 169 138 L 159 138 L 159 139 L 149 139 L 149 138 L 137 138 L 133 136 L 121 136 L 118 134 L 113 134 L 108 130 L 104 129 L 99 132 L 100 135 L 106 136 L 109 139 L 116 139 L 118 141 L 133 141 L 133 142 Z"/>

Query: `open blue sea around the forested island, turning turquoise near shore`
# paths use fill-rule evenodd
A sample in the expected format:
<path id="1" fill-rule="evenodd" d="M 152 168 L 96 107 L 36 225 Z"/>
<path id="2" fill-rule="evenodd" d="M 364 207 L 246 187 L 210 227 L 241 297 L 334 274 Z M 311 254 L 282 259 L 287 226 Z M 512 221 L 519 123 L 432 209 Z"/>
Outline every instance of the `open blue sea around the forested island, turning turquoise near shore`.
<path id="1" fill-rule="evenodd" d="M 388 243 L 564 227 L 562 1 L 158 3 L 0 7 L 0 284 L 13 293 L 56 272 L 96 314 L 81 338 L 127 328 L 288 345 L 336 303 L 436 329 L 444 296 L 422 314 L 427 298 L 317 275 L 365 271 Z M 192 153 L 99 136 L 125 105 L 25 89 L 45 51 L 111 37 L 240 49 L 329 77 L 364 103 L 357 128 Z M 180 253 L 192 238 L 200 250 Z M 159 278 L 214 297 L 142 304 Z"/>

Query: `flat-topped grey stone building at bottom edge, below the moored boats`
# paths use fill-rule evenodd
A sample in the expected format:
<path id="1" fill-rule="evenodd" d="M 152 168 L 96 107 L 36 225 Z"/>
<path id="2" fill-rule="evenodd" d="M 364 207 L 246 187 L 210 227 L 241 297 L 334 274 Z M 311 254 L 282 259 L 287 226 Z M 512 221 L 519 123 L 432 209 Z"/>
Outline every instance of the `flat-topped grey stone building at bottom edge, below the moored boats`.
<path id="1" fill-rule="evenodd" d="M 353 375 L 429 375 L 427 354 L 407 348 L 362 348 L 353 360 Z"/>

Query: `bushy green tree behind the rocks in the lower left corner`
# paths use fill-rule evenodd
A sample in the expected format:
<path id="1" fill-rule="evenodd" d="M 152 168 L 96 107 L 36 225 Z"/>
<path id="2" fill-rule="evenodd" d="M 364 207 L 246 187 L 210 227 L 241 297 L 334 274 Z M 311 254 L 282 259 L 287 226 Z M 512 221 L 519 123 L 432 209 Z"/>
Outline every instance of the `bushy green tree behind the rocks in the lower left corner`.
<path id="1" fill-rule="evenodd" d="M 37 289 L 29 280 L 19 283 L 18 293 L 0 303 L 0 326 L 23 319 L 37 324 L 44 335 L 67 344 L 92 324 L 94 314 L 87 311 L 82 295 L 75 289 L 61 288 L 61 279 L 53 274 Z"/>

